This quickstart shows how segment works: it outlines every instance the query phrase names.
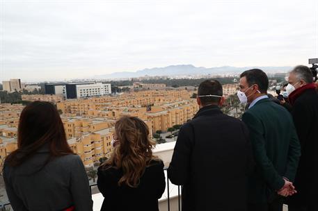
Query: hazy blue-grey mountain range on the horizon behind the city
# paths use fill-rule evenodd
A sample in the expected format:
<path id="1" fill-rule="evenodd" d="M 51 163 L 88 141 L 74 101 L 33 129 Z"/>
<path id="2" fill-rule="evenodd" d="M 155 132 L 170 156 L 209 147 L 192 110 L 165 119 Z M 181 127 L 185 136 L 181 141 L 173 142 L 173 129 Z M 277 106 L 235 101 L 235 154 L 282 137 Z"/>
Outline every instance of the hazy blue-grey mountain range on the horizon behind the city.
<path id="1" fill-rule="evenodd" d="M 170 65 L 168 67 L 154 67 L 138 71 L 122 71 L 113 74 L 95 76 L 95 78 L 135 78 L 142 76 L 186 76 L 186 75 L 224 75 L 239 74 L 246 69 L 259 68 L 267 73 L 287 72 L 292 67 L 194 67 L 193 65 Z"/>

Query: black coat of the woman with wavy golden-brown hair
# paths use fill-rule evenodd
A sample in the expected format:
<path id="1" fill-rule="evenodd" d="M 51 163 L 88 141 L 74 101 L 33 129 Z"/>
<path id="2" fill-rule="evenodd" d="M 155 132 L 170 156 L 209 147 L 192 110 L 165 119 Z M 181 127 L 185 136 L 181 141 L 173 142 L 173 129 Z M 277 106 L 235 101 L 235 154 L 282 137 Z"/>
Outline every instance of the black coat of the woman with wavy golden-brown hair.
<path id="1" fill-rule="evenodd" d="M 101 211 L 158 211 L 158 199 L 161 198 L 166 187 L 164 163 L 152 160 L 146 167 L 138 187 L 128 185 L 118 186 L 122 177 L 122 170 L 114 167 L 98 168 L 97 186 L 104 196 Z"/>

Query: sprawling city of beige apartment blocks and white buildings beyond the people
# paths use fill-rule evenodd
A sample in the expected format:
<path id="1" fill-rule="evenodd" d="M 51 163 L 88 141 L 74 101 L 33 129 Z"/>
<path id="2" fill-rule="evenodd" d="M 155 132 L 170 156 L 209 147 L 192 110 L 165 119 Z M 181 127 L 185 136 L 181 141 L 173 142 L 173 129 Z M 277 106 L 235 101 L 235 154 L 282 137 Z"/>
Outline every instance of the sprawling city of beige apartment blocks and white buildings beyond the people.
<path id="1" fill-rule="evenodd" d="M 284 76 L 285 74 L 273 75 L 272 90 L 284 81 Z M 0 168 L 3 168 L 6 156 L 17 149 L 19 114 L 32 101 L 54 103 L 61 115 L 67 142 L 74 153 L 81 157 L 91 184 L 96 181 L 97 167 L 109 158 L 113 150 L 111 140 L 114 124 L 120 117 L 129 115 L 145 121 L 150 128 L 150 137 L 157 144 L 175 142 L 182 124 L 190 121 L 198 112 L 198 83 L 209 77 L 178 78 L 172 86 L 167 83 L 170 81 L 168 78 L 146 77 L 148 81 L 152 79 L 164 83 L 148 83 L 144 78 L 132 78 L 132 85 L 127 85 L 125 80 L 116 81 L 115 85 L 87 81 L 29 85 L 19 78 L 3 81 L 3 90 L 0 91 Z M 223 107 L 223 112 L 241 117 L 244 107 L 241 107 L 236 96 L 237 76 L 217 79 L 225 83 L 223 96 L 227 99 L 227 104 Z M 193 81 L 197 84 L 193 85 Z M 8 94 L 14 93 L 19 94 L 18 101 L 11 99 L 10 103 L 4 103 L 8 100 Z M 271 90 L 269 93 L 275 94 Z M 8 200 L 2 178 L 0 196 L 0 201 Z"/>

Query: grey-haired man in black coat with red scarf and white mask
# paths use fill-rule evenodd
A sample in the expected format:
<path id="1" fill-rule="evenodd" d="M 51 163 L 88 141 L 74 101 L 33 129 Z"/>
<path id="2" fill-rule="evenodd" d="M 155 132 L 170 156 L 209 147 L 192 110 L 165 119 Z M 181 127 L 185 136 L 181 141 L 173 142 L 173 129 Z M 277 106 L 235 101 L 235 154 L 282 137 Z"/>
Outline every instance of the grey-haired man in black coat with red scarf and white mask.
<path id="1" fill-rule="evenodd" d="M 299 65 L 289 73 L 286 91 L 301 143 L 301 158 L 294 186 L 297 194 L 288 199 L 289 211 L 318 210 L 318 94 L 310 69 Z"/>

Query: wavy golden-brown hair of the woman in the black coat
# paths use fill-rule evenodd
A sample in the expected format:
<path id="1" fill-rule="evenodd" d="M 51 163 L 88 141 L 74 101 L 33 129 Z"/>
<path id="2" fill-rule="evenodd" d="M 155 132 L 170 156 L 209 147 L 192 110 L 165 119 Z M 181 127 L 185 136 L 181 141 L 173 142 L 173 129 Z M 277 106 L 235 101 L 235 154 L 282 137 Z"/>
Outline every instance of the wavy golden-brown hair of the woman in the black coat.
<path id="1" fill-rule="evenodd" d="M 156 142 L 149 137 L 149 128 L 144 121 L 137 117 L 124 116 L 115 124 L 116 140 L 119 144 L 113 149 L 111 157 L 102 167 L 122 169 L 122 178 L 118 185 L 138 187 L 140 178 L 151 160 L 159 160 L 152 155 Z"/>

